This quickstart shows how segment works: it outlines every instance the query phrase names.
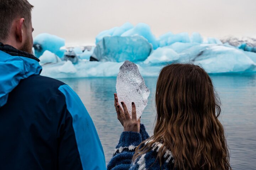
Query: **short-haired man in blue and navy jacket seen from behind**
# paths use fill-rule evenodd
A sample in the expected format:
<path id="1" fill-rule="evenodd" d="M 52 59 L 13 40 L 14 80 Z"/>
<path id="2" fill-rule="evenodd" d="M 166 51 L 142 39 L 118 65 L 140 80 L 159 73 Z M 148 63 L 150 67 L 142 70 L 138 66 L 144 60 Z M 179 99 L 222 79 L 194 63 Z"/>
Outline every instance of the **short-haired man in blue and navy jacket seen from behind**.
<path id="1" fill-rule="evenodd" d="M 95 126 L 76 93 L 40 75 L 27 0 L 0 0 L 0 169 L 106 169 Z"/>

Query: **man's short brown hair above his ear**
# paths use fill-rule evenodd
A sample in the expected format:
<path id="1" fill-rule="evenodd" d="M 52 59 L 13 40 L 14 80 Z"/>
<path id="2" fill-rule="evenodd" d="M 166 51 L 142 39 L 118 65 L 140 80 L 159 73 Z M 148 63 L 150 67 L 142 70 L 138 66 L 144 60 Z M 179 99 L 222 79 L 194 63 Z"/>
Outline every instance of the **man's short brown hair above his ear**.
<path id="1" fill-rule="evenodd" d="M 33 6 L 27 0 L 0 0 L 0 41 L 7 39 L 11 24 L 17 17 L 25 18 L 25 26 L 31 21 Z"/>

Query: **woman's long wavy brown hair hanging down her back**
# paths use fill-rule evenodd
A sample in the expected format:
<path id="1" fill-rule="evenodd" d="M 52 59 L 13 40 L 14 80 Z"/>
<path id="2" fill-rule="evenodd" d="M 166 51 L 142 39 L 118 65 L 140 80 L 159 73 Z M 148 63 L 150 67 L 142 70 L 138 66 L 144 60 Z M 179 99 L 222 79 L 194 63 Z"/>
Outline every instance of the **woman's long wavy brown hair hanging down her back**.
<path id="1" fill-rule="evenodd" d="M 156 85 L 154 135 L 137 147 L 133 161 L 162 142 L 157 159 L 166 149 L 174 167 L 182 170 L 228 170 L 229 152 L 218 117 L 220 101 L 212 80 L 199 66 L 171 64 L 164 67 Z"/>

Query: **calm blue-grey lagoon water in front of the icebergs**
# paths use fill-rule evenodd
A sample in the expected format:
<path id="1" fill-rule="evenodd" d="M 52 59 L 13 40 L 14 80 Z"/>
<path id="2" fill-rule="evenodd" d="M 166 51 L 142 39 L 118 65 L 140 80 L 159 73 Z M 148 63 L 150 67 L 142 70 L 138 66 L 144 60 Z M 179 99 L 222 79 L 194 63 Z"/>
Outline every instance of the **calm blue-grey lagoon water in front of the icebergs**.
<path id="1" fill-rule="evenodd" d="M 220 119 L 225 127 L 231 165 L 234 170 L 255 170 L 256 75 L 212 75 L 211 77 L 222 101 Z M 123 131 L 113 106 L 116 78 L 61 80 L 70 85 L 84 102 L 98 131 L 108 163 Z M 141 121 L 150 135 L 155 120 L 153 96 L 156 80 L 157 78 L 145 78 L 151 94 Z"/>

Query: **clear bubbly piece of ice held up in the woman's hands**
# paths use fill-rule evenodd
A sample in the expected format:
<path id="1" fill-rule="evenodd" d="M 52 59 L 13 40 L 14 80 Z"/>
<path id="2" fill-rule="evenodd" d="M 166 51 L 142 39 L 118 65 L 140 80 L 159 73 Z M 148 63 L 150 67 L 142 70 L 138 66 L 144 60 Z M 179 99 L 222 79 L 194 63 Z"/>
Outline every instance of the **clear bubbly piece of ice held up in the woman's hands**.
<path id="1" fill-rule="evenodd" d="M 125 61 L 120 67 L 117 76 L 116 91 L 118 101 L 124 101 L 126 103 L 130 117 L 132 117 L 132 102 L 135 103 L 137 119 L 139 119 L 148 104 L 150 91 L 145 85 L 145 81 L 140 75 L 136 64 Z"/>

